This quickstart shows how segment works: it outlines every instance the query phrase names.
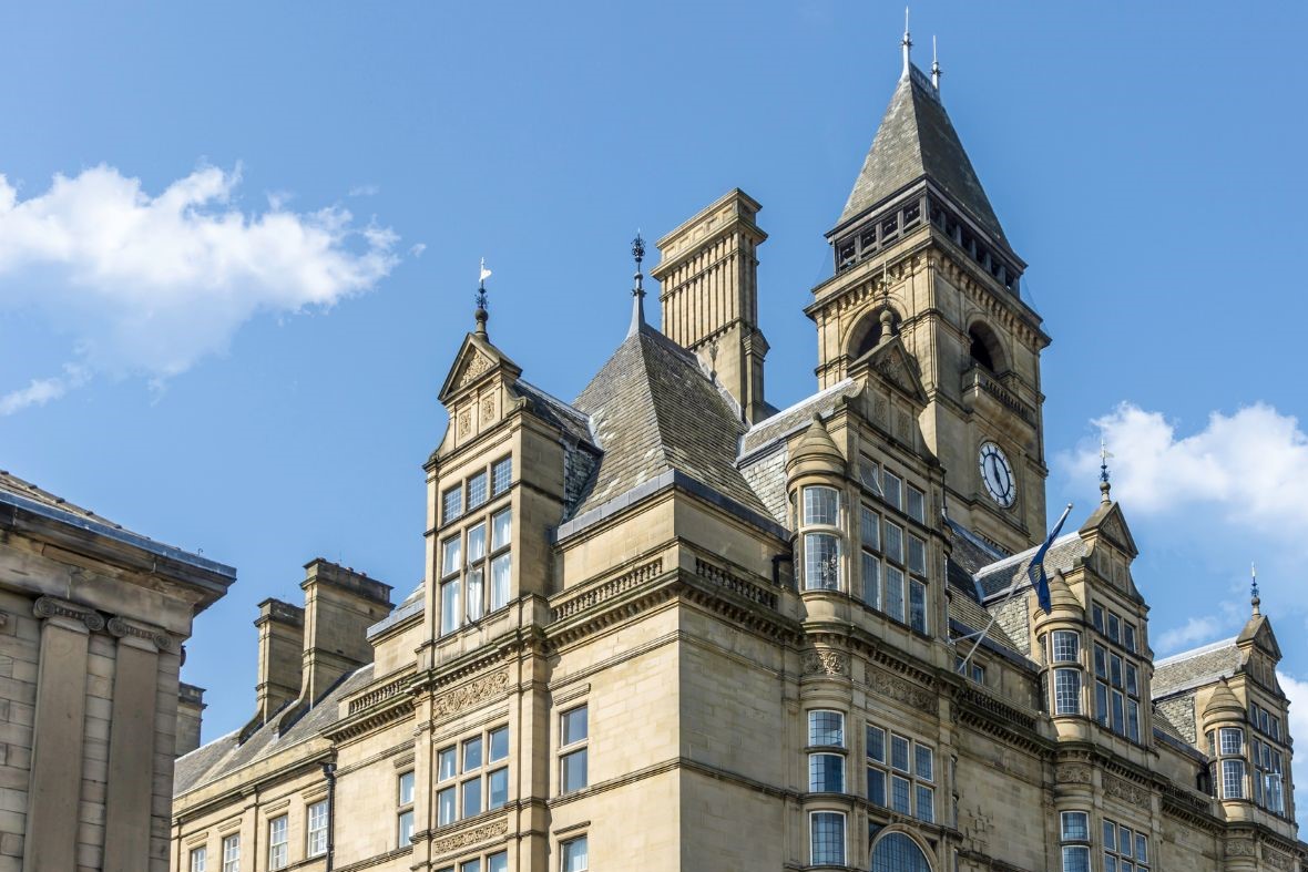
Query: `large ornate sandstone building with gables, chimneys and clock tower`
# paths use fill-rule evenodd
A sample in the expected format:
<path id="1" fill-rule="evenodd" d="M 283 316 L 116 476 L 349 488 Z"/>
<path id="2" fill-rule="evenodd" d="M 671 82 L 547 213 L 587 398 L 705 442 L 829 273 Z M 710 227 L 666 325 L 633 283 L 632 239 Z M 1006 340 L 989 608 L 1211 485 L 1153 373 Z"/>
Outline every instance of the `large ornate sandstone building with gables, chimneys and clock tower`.
<path id="1" fill-rule="evenodd" d="M 425 579 L 391 611 L 315 561 L 302 609 L 260 607 L 254 718 L 178 761 L 178 872 L 1300 868 L 1257 599 L 1155 663 L 1107 480 L 1031 594 L 1050 337 L 906 46 L 806 309 L 818 392 L 783 411 L 759 209 L 658 242 L 662 329 L 637 246 L 572 403 L 479 307 Z"/>

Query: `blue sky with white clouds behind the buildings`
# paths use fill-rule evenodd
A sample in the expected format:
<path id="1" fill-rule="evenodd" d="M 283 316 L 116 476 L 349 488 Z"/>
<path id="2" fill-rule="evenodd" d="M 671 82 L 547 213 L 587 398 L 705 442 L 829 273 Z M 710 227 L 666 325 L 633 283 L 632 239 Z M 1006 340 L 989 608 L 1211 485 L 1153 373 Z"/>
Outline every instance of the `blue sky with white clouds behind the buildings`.
<path id="1" fill-rule="evenodd" d="M 913 12 L 1054 339 L 1050 505 L 1091 511 L 1107 433 L 1155 651 L 1237 631 L 1256 560 L 1299 681 L 1305 27 L 1298 3 Z M 494 341 L 572 397 L 624 333 L 633 230 L 739 186 L 770 234 L 769 399 L 811 392 L 800 309 L 901 29 L 828 0 L 7 7 L 0 463 L 238 567 L 184 676 L 232 729 L 255 604 L 297 601 L 307 560 L 420 578 L 479 258 Z"/>

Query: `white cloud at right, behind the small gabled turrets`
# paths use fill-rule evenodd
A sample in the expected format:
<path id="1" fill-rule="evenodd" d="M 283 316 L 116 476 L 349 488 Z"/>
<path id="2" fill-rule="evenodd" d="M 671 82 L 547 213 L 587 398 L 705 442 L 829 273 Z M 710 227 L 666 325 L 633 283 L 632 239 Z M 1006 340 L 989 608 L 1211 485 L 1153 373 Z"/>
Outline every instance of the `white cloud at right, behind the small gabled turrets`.
<path id="1" fill-rule="evenodd" d="M 1202 430 L 1179 435 L 1159 412 L 1124 403 L 1093 421 L 1108 442 L 1113 497 L 1129 512 L 1162 515 L 1196 503 L 1224 519 L 1308 548 L 1308 435 L 1299 420 L 1257 403 L 1235 414 L 1214 412 Z M 1097 441 L 1063 458 L 1088 480 L 1099 468 Z"/>

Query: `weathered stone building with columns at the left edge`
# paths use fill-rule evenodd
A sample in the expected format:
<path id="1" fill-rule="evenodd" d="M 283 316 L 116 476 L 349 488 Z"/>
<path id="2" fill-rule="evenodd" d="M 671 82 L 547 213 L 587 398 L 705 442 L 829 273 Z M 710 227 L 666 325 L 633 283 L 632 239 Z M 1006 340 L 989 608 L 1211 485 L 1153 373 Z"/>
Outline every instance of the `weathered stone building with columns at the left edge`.
<path id="1" fill-rule="evenodd" d="M 182 642 L 234 579 L 0 471 L 0 872 L 169 868 Z"/>

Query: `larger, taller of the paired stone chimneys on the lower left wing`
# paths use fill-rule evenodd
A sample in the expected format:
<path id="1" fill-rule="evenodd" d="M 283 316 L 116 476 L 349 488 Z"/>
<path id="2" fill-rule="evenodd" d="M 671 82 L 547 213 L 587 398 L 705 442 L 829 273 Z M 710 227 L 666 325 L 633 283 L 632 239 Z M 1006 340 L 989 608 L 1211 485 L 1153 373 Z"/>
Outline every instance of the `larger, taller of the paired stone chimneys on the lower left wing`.
<path id="1" fill-rule="evenodd" d="M 368 628 L 391 613 L 391 586 L 323 558 L 305 565 L 300 699 L 318 702 L 340 677 L 373 662 Z"/>

